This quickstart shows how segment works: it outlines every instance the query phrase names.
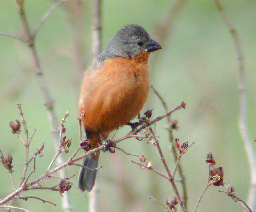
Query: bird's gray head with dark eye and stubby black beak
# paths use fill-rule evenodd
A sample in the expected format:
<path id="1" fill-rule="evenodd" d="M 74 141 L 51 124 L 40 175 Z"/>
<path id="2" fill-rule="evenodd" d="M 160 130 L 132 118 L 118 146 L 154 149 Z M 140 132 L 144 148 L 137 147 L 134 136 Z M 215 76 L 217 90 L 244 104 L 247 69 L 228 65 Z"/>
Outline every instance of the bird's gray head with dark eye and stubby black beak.
<path id="1" fill-rule="evenodd" d="M 158 42 L 150 38 L 145 29 L 136 24 L 130 24 L 118 30 L 97 57 L 97 61 L 116 56 L 132 58 L 139 55 L 141 50 L 152 52 L 161 48 Z"/>

